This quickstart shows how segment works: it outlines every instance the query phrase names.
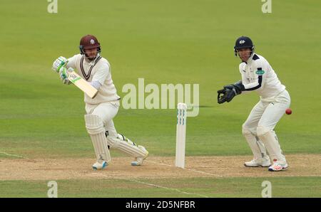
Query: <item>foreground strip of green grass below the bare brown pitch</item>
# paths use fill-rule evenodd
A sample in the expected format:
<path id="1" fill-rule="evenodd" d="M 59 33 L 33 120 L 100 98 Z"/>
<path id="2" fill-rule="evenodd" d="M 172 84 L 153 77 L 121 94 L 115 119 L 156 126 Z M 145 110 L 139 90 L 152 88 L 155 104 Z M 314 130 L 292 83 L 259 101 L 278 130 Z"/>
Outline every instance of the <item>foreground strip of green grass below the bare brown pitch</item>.
<path id="1" fill-rule="evenodd" d="M 272 184 L 272 197 L 320 197 L 320 177 L 228 179 L 113 179 L 57 181 L 58 197 L 118 198 L 260 198 L 263 181 Z M 46 197 L 48 181 L 0 181 L 0 197 Z M 300 192 L 298 192 L 300 190 Z"/>

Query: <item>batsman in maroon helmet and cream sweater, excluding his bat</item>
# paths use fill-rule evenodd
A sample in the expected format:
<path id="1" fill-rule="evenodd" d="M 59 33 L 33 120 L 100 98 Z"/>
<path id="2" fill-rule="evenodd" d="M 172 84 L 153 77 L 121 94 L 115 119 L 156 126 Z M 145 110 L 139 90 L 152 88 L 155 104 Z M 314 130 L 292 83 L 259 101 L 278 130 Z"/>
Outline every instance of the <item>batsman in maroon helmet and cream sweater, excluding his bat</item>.
<path id="1" fill-rule="evenodd" d="M 93 169 L 104 169 L 111 162 L 109 149 L 119 149 L 134 157 L 132 166 L 140 166 L 148 157 L 145 147 L 131 142 L 116 132 L 113 118 L 117 115 L 121 97 L 117 95 L 111 78 L 111 65 L 101 56 L 101 45 L 92 35 L 83 36 L 80 41 L 80 53 L 71 58 L 59 57 L 54 61 L 53 69 L 59 73 L 62 82 L 70 84 L 68 68 L 76 69 L 78 75 L 98 90 L 96 97 L 84 96 L 86 103 L 86 129 L 93 142 L 96 163 Z"/>

